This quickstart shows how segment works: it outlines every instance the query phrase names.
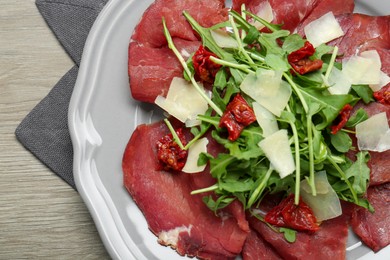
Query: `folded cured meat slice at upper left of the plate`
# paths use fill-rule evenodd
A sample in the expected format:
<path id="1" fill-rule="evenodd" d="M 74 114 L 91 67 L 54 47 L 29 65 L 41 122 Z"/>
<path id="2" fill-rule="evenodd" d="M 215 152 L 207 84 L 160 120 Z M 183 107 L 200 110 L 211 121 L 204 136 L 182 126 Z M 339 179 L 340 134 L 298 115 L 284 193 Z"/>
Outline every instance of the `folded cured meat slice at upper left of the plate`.
<path id="1" fill-rule="evenodd" d="M 182 12 L 188 11 L 202 26 L 209 27 L 227 20 L 222 0 L 157 0 L 144 13 L 131 36 L 128 73 L 134 99 L 153 103 L 167 93 L 173 77 L 183 68 L 167 47 L 163 32 L 164 17 L 175 46 L 188 58 L 200 45 L 196 33 Z"/>

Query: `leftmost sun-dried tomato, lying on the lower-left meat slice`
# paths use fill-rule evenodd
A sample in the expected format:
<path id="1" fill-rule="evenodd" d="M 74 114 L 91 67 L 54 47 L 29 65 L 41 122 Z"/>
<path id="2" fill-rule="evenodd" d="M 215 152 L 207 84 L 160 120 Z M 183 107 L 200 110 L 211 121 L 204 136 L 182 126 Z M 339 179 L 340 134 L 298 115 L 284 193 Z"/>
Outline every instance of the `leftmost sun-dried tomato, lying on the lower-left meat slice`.
<path id="1" fill-rule="evenodd" d="M 176 134 L 182 144 L 186 145 L 186 139 L 181 128 L 176 130 Z M 187 160 L 188 151 L 180 148 L 174 141 L 172 134 L 167 134 L 158 140 L 156 147 L 160 169 L 167 171 L 180 171 L 183 169 Z"/>

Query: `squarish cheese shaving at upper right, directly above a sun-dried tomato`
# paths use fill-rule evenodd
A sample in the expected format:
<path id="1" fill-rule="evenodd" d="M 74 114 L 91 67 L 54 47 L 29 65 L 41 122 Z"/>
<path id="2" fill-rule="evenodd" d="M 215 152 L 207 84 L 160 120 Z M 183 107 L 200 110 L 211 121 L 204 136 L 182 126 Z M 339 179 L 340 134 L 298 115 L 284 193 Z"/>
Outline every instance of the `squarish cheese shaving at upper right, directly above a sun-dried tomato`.
<path id="1" fill-rule="evenodd" d="M 307 40 L 314 47 L 318 47 L 323 43 L 330 42 L 344 35 L 339 22 L 332 12 L 328 12 L 307 24 L 303 30 Z"/>

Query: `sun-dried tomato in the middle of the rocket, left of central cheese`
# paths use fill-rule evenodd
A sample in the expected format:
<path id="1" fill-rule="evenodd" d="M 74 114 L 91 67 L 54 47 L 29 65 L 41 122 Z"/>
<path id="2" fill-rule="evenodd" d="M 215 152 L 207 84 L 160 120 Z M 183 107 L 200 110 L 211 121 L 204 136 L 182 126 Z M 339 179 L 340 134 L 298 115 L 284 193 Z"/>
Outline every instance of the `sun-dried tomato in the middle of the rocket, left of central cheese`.
<path id="1" fill-rule="evenodd" d="M 219 127 L 226 127 L 229 140 L 234 141 L 237 140 L 246 126 L 255 121 L 256 116 L 253 109 L 240 94 L 237 94 L 227 105 L 219 121 Z"/>

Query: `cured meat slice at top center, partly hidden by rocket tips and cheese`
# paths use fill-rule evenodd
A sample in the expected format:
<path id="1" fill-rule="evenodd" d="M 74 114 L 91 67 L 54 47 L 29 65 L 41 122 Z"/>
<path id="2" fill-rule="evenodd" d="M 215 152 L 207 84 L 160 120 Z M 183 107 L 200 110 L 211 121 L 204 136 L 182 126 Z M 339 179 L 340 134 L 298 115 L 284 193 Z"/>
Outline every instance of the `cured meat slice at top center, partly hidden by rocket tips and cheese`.
<path id="1" fill-rule="evenodd" d="M 257 14 L 260 8 L 264 6 L 264 2 L 267 2 L 267 0 L 235 0 L 232 8 L 240 11 L 241 5 L 245 4 L 247 10 Z M 283 29 L 292 32 L 311 13 L 320 0 L 268 0 L 268 2 L 273 10 L 274 20 L 272 22 L 283 24 Z"/>

